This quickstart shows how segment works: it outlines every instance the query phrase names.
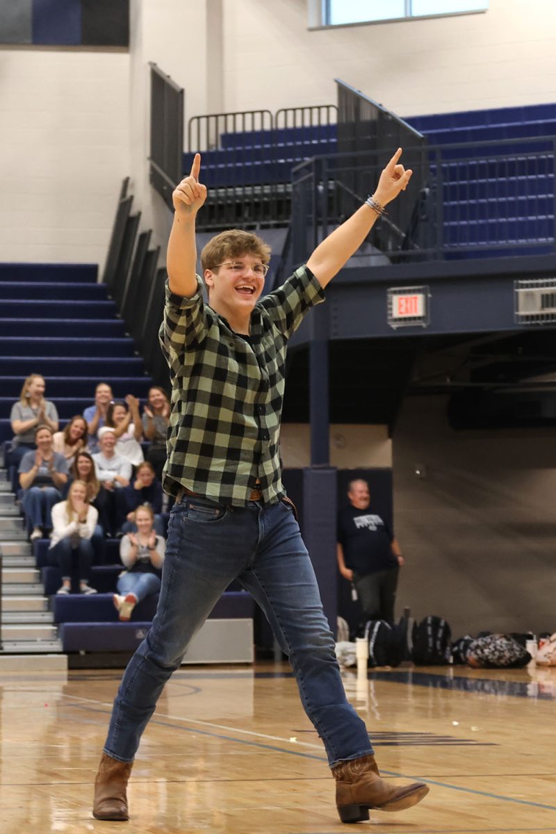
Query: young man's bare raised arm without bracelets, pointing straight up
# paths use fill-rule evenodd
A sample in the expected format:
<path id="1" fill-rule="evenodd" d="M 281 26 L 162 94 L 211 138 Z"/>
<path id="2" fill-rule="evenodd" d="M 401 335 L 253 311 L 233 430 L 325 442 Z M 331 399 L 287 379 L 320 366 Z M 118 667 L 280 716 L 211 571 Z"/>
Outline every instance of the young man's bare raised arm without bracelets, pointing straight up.
<path id="1" fill-rule="evenodd" d="M 207 198 L 207 187 L 198 182 L 200 170 L 201 154 L 196 153 L 191 173 L 172 194 L 174 215 L 168 239 L 166 269 L 172 292 L 187 297 L 197 292 L 195 219 Z"/>

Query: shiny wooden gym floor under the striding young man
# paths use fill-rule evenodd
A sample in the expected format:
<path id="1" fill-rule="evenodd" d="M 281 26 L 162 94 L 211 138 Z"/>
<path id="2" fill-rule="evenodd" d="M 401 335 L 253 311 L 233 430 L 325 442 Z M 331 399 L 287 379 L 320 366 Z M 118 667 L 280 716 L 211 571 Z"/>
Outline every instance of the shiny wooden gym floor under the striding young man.
<path id="1" fill-rule="evenodd" d="M 288 667 L 183 667 L 143 736 L 131 820 L 91 815 L 119 671 L 0 674 L 0 831 L 98 834 L 556 832 L 556 669 L 344 676 L 383 775 L 431 791 L 340 823 L 323 747 Z"/>

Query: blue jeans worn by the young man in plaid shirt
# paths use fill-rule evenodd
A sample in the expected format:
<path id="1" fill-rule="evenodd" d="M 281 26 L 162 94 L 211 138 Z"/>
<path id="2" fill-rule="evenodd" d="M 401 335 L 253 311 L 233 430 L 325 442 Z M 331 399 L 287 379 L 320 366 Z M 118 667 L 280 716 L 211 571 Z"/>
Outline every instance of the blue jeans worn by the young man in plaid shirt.
<path id="1" fill-rule="evenodd" d="M 373 753 L 348 703 L 317 580 L 291 508 L 283 501 L 230 509 L 185 498 L 173 506 L 158 610 L 114 701 L 104 751 L 133 761 L 163 686 L 213 605 L 237 578 L 261 606 L 289 656 L 303 707 L 330 765 Z"/>

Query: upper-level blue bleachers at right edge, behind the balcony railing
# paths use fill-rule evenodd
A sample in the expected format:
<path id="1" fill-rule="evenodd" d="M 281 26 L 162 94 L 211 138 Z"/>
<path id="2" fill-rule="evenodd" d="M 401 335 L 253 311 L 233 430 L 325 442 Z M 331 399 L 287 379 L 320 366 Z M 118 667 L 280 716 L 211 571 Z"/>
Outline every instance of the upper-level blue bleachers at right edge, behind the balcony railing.
<path id="1" fill-rule="evenodd" d="M 431 146 L 441 146 L 441 170 L 431 153 L 430 172 L 432 187 L 435 178 L 442 183 L 442 242 L 448 257 L 450 249 L 453 258 L 524 254 L 531 244 L 535 254 L 552 251 L 556 104 L 407 121 Z"/>

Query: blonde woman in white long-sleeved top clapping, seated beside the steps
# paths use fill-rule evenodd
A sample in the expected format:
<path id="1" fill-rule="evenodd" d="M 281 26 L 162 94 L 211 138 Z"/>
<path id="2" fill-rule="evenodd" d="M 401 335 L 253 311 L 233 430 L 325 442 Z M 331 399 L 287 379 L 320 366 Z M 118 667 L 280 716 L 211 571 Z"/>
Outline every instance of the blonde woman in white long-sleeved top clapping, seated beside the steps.
<path id="1" fill-rule="evenodd" d="M 78 563 L 79 590 L 82 594 L 96 594 L 89 585 L 93 566 L 93 534 L 98 512 L 87 499 L 87 484 L 74 480 L 68 500 L 55 504 L 52 510 L 53 535 L 48 549 L 48 560 L 62 570 L 62 586 L 57 594 L 69 594 L 72 585 L 74 558 Z"/>

